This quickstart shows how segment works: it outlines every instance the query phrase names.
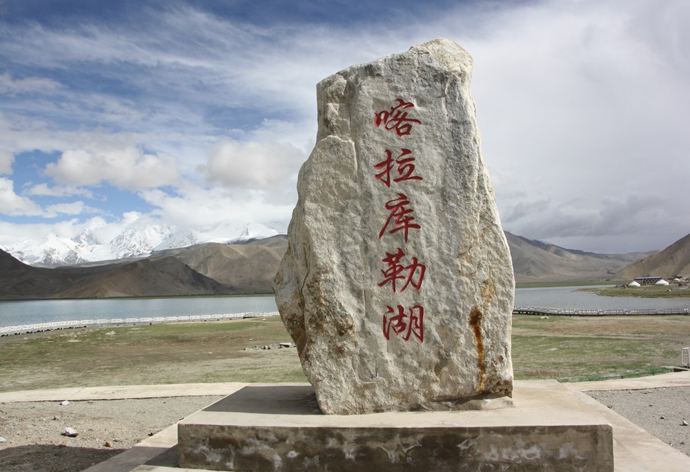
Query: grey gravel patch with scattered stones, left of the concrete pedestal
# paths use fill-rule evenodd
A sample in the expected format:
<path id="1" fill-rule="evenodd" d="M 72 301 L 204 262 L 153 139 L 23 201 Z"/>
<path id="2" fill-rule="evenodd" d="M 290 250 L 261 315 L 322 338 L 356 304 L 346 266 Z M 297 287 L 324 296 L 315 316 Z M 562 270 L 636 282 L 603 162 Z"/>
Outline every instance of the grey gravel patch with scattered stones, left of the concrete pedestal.
<path id="1" fill-rule="evenodd" d="M 0 403 L 0 471 L 83 471 L 219 398 Z"/>

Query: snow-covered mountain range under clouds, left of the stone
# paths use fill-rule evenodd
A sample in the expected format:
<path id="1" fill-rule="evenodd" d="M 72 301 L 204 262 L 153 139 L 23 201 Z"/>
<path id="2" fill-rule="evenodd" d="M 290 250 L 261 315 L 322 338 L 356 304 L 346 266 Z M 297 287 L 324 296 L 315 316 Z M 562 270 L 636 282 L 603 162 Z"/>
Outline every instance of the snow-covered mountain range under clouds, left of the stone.
<path id="1" fill-rule="evenodd" d="M 232 243 L 277 235 L 257 223 L 221 223 L 206 230 L 156 224 L 132 224 L 108 241 L 87 228 L 72 239 L 48 235 L 8 246 L 8 252 L 32 266 L 63 266 L 125 257 L 148 256 L 157 250 L 186 248 L 206 242 Z"/>

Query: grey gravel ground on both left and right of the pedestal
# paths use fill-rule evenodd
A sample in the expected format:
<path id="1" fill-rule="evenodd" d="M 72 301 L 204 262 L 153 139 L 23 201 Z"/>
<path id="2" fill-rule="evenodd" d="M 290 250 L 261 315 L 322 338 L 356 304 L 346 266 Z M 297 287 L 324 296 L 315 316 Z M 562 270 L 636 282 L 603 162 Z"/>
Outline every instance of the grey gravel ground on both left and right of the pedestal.
<path id="1" fill-rule="evenodd" d="M 690 455 L 690 386 L 588 394 Z M 121 453 L 219 397 L 0 404 L 0 471 L 78 472 Z M 62 435 L 66 428 L 77 437 Z"/>

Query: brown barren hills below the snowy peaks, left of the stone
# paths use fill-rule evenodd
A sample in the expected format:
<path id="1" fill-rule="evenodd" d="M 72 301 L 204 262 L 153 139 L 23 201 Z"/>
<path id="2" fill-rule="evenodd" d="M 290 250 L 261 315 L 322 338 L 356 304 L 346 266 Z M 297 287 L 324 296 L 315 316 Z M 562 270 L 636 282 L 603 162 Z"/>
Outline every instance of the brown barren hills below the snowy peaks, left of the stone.
<path id="1" fill-rule="evenodd" d="M 200 244 L 136 260 L 37 268 L 0 253 L 0 299 L 271 293 L 285 236 Z"/>

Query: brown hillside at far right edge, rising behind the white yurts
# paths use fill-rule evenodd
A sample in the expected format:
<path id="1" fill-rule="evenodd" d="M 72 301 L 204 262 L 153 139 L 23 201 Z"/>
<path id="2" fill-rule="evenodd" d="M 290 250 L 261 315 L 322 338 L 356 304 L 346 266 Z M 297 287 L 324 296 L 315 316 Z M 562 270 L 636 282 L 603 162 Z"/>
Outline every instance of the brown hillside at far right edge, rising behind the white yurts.
<path id="1" fill-rule="evenodd" d="M 635 277 L 690 277 L 690 235 L 671 244 L 666 249 L 625 267 L 620 279 Z"/>

